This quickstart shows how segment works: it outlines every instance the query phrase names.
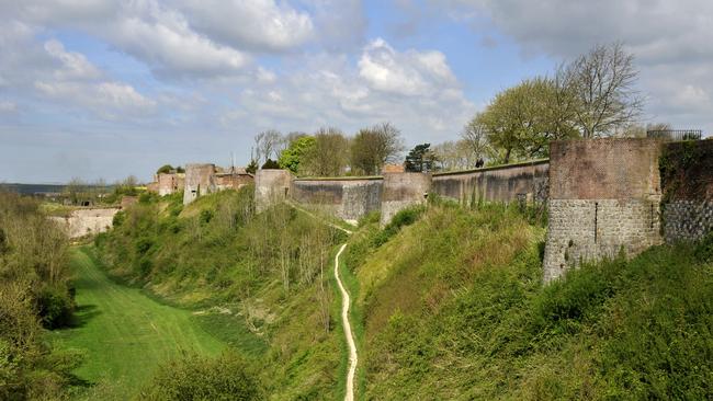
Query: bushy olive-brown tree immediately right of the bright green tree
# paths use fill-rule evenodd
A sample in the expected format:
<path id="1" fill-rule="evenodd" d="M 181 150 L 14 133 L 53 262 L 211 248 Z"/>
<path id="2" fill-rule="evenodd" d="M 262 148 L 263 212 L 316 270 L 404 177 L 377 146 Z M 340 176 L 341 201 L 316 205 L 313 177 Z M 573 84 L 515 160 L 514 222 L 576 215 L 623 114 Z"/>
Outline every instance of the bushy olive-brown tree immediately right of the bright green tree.
<path id="1" fill-rule="evenodd" d="M 347 168 L 349 140 L 337 128 L 320 128 L 314 137 L 315 146 L 305 152 L 301 162 L 303 173 L 319 176 L 341 175 Z"/>

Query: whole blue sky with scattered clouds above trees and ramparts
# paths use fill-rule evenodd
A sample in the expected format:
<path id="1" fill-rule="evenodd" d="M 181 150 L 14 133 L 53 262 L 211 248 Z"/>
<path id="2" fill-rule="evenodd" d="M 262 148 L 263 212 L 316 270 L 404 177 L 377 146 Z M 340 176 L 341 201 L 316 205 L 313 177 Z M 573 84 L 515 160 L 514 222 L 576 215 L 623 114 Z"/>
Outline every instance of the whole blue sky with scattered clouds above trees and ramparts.
<path id="1" fill-rule="evenodd" d="M 642 124 L 713 133 L 710 0 L 0 0 L 0 182 L 246 164 L 265 129 L 457 139 L 493 96 L 622 42 Z"/>

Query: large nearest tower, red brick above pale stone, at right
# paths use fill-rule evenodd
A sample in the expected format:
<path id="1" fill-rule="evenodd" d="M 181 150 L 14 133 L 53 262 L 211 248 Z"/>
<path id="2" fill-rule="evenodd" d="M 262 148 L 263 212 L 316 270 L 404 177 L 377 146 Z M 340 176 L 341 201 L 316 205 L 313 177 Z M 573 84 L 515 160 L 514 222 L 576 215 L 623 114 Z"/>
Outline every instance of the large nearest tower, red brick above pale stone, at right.
<path id="1" fill-rule="evenodd" d="M 660 149 L 655 139 L 551 144 L 545 282 L 581 261 L 661 242 Z"/>

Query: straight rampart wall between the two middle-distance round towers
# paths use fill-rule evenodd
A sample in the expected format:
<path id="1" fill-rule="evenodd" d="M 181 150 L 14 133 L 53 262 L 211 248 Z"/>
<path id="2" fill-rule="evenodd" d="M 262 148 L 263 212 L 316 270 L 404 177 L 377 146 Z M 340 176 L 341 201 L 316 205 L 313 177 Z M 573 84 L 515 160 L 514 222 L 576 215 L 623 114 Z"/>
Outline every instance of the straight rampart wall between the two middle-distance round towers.
<path id="1" fill-rule="evenodd" d="M 382 187 L 382 177 L 299 179 L 292 183 L 291 197 L 343 220 L 356 221 L 373 210 L 380 210 Z"/>

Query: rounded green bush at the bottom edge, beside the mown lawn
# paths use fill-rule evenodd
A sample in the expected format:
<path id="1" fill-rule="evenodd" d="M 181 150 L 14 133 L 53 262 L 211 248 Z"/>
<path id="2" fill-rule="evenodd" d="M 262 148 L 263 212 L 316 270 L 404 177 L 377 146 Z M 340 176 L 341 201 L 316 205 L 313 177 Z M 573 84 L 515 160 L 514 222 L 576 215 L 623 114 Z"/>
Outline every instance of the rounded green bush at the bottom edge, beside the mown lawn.
<path id="1" fill-rule="evenodd" d="M 236 354 L 185 355 L 160 366 L 142 391 L 146 400 L 263 400 L 254 373 Z"/>

